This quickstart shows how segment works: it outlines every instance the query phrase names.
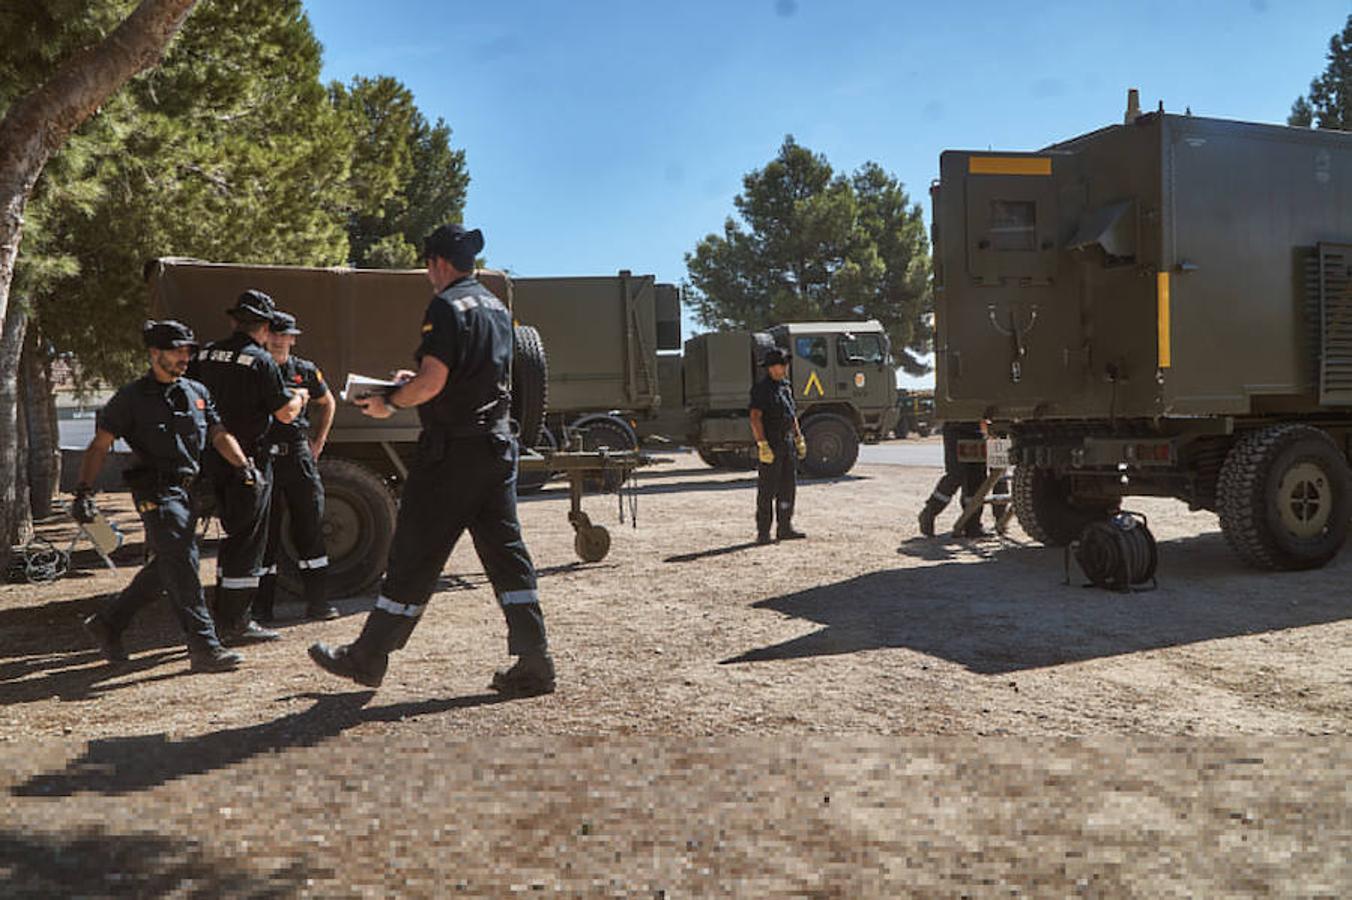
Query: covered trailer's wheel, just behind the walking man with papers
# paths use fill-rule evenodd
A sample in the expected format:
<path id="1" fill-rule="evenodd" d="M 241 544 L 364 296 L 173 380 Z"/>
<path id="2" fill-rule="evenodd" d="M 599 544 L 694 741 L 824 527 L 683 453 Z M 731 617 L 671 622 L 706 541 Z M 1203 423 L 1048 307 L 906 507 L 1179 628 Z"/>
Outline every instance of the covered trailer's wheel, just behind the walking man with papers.
<path id="1" fill-rule="evenodd" d="M 329 596 L 350 597 L 376 584 L 395 536 L 395 495 L 366 466 L 324 457 L 324 549 Z"/>

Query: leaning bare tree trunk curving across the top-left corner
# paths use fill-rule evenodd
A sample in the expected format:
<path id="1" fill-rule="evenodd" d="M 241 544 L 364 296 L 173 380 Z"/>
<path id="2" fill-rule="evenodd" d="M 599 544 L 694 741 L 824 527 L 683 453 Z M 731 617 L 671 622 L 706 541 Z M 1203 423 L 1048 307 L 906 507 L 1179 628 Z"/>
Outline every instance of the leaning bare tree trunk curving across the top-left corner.
<path id="1" fill-rule="evenodd" d="M 0 119 L 0 538 L 15 512 L 15 376 L 27 314 L 9 316 L 9 285 L 23 238 L 23 211 L 42 168 L 70 132 L 131 76 L 160 62 L 197 0 L 141 0 L 122 24 L 57 69 L 51 80 L 9 105 Z M 27 509 L 27 508 L 26 508 Z M 8 542 L 0 541 L 8 565 Z"/>

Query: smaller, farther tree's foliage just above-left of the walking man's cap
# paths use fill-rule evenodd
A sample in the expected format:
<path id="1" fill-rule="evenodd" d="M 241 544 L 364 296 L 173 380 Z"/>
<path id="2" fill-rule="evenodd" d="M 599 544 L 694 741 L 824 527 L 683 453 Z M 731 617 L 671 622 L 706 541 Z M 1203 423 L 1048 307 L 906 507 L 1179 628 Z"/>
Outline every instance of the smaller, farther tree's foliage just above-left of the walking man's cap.
<path id="1" fill-rule="evenodd" d="M 330 93 L 357 135 L 347 224 L 353 265 L 420 264 L 423 236 L 461 216 L 465 153 L 450 149 L 446 123 L 429 124 L 395 78 L 354 78 Z"/>

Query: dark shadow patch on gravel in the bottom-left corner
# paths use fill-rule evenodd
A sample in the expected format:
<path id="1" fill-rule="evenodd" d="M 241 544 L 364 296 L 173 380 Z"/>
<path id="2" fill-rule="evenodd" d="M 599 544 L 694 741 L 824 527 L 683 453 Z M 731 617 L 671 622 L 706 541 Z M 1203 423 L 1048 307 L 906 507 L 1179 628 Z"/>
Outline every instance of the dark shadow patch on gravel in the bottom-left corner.
<path id="1" fill-rule="evenodd" d="M 300 859 L 268 873 L 210 854 L 191 839 L 110 834 L 103 828 L 34 832 L 0 828 L 5 896 L 289 897 L 331 878 Z"/>

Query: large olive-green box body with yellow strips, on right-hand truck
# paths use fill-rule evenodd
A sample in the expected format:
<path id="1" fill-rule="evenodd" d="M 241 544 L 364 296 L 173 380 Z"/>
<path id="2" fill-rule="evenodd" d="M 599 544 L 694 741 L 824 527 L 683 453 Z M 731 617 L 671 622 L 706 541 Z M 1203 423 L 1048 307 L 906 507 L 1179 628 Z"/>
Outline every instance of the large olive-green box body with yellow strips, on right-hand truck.
<path id="1" fill-rule="evenodd" d="M 1153 114 L 940 169 L 941 419 L 1352 404 L 1352 135 Z"/>

